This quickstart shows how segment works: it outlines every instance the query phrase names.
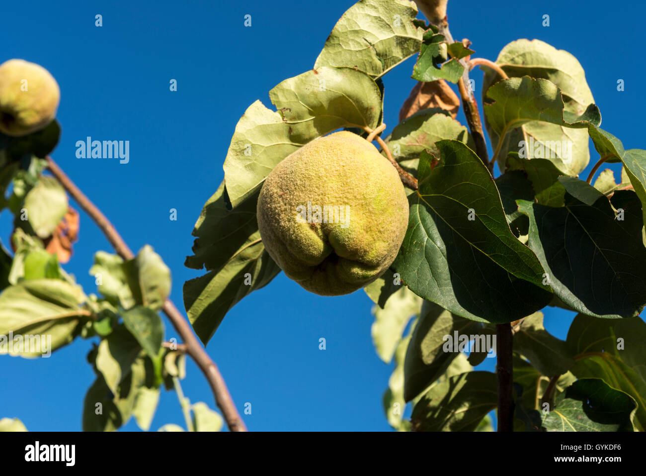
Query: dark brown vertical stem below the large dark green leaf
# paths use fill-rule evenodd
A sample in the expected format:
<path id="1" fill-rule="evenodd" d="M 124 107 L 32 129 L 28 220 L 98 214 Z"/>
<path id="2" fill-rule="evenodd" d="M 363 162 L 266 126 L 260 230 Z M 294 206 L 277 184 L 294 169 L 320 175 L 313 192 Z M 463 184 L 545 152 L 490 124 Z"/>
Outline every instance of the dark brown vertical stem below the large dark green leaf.
<path id="1" fill-rule="evenodd" d="M 512 327 L 509 324 L 495 326 L 496 354 L 498 362 L 498 431 L 514 431 L 514 364 Z"/>

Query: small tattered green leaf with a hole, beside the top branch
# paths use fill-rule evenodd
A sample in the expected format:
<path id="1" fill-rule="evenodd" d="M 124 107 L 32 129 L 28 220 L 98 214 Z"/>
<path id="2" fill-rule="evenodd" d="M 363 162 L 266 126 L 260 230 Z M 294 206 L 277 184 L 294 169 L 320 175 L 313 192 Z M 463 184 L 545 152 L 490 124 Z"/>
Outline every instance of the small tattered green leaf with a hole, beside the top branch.
<path id="1" fill-rule="evenodd" d="M 462 77 L 464 67 L 456 58 L 446 61 L 447 58 L 448 45 L 444 41 L 444 36 L 436 34 L 433 29 L 426 31 L 417 63 L 413 67 L 413 79 L 427 83 L 435 80 L 457 83 Z"/>

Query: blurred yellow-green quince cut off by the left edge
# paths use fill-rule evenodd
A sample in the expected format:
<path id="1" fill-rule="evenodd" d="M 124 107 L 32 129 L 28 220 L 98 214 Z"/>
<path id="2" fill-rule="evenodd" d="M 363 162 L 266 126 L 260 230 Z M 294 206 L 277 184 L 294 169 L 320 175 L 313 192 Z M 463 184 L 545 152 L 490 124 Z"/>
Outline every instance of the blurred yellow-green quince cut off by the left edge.
<path id="1" fill-rule="evenodd" d="M 43 129 L 56 116 L 60 98 L 54 76 L 42 66 L 25 60 L 0 65 L 0 131 L 6 135 Z"/>

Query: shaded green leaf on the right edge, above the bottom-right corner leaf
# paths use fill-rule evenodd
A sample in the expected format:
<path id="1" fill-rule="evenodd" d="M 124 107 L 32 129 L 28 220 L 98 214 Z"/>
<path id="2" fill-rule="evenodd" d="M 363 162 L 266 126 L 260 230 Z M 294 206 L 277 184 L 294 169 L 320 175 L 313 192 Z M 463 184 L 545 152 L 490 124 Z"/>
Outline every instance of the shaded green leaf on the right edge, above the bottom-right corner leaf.
<path id="1" fill-rule="evenodd" d="M 578 314 L 567 343 L 578 378 L 602 378 L 614 389 L 632 396 L 638 404 L 634 425 L 646 429 L 646 323 L 638 317 L 596 319 Z"/>

